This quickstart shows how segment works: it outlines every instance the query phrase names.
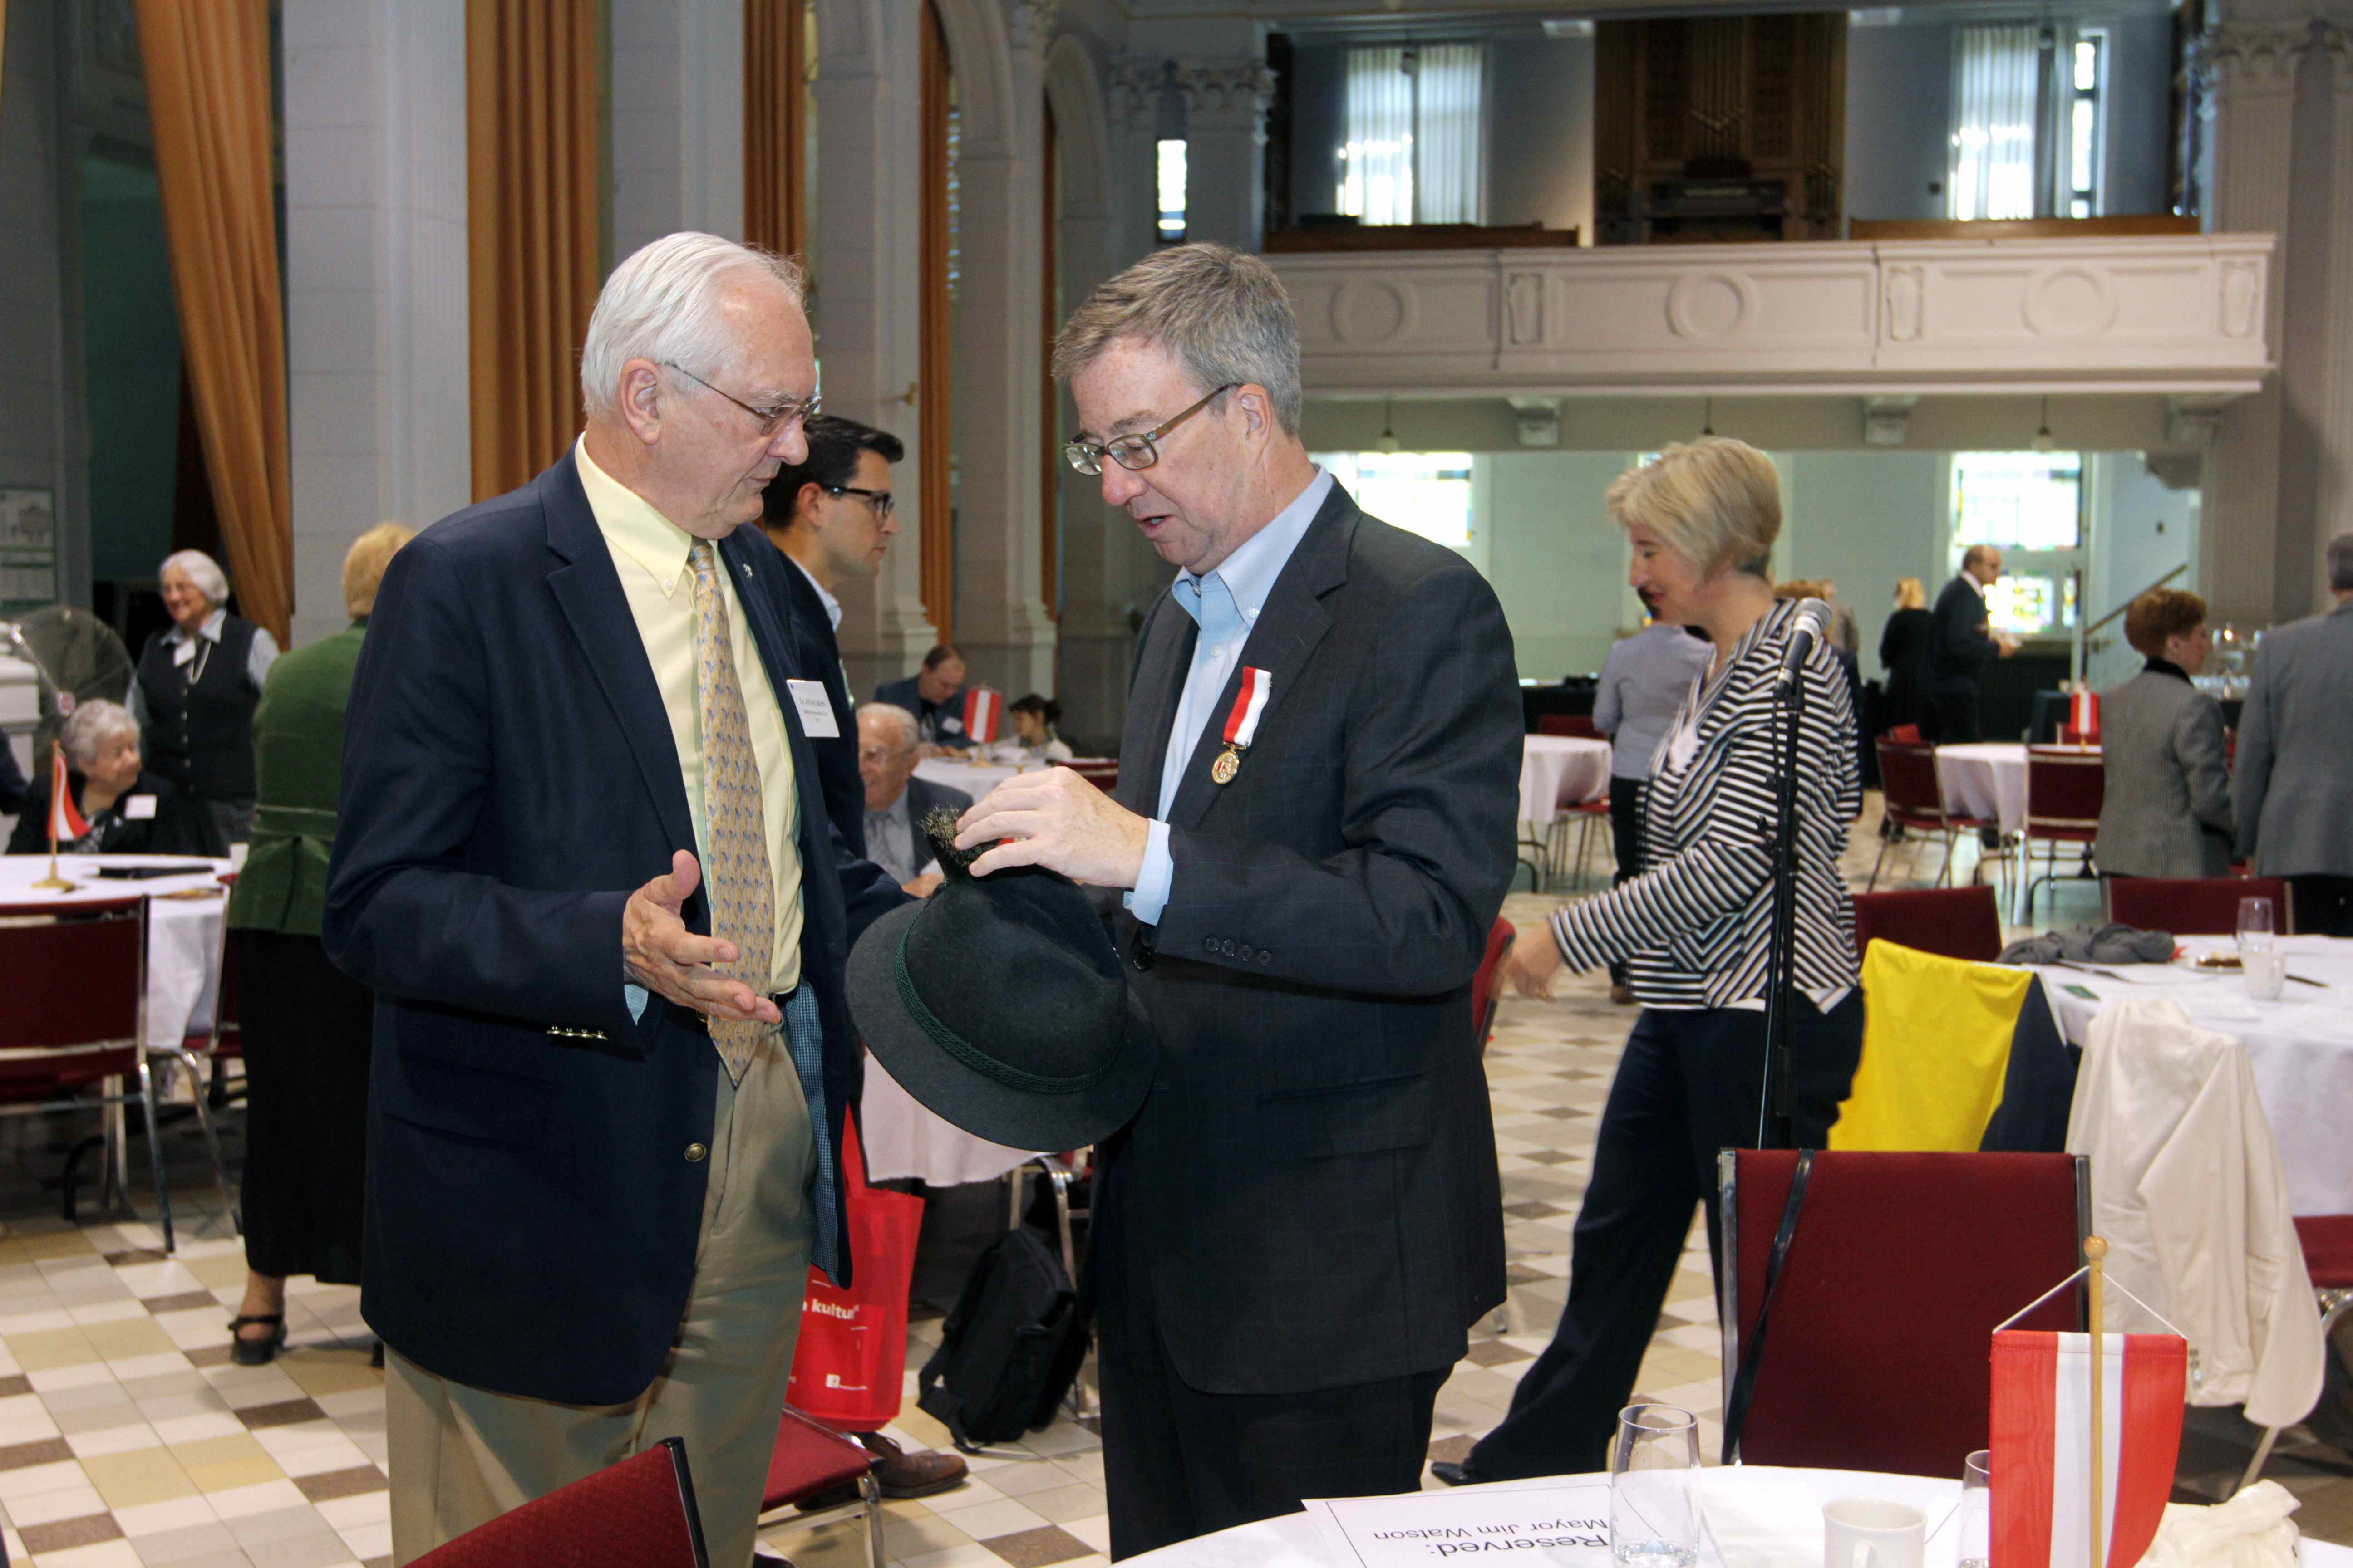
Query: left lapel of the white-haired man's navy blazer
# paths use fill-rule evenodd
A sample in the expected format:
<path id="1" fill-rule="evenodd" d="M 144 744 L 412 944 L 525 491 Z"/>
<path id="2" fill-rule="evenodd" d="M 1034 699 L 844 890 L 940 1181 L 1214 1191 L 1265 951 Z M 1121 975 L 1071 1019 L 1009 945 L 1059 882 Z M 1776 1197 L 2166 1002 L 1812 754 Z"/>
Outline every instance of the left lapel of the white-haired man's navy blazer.
<path id="1" fill-rule="evenodd" d="M 548 550 L 562 562 L 548 574 L 548 592 L 555 595 L 581 658 L 621 719 L 621 733 L 628 738 L 664 835 L 678 849 L 694 849 L 694 816 L 687 811 L 671 717 L 661 705 L 638 618 L 628 609 L 628 595 L 621 592 L 621 574 L 612 567 L 612 550 L 595 527 L 595 512 L 588 510 L 588 491 L 581 489 L 572 454 L 565 451 L 536 484 L 548 520 Z"/>

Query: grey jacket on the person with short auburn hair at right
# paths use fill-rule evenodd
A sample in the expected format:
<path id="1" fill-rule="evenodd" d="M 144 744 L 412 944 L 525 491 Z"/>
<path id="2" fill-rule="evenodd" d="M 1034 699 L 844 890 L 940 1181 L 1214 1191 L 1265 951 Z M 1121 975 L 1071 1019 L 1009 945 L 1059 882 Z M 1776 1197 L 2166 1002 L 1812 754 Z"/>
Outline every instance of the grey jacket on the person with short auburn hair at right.
<path id="1" fill-rule="evenodd" d="M 2221 703 L 2169 670 L 2141 670 L 2099 696 L 2108 795 L 2099 870 L 2125 877 L 2221 877 L 2231 870 L 2231 771 Z"/>

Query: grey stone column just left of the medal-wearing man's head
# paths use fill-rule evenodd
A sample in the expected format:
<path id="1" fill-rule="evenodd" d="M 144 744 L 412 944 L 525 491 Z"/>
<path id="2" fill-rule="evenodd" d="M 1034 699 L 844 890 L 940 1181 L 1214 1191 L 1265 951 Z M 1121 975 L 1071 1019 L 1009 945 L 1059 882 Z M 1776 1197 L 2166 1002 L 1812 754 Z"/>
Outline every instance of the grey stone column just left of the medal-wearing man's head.
<path id="1" fill-rule="evenodd" d="M 979 0 L 991 2 L 991 0 Z M 1045 355 L 1045 49 L 1056 0 L 1014 0 L 1005 103 L 981 101 L 988 61 L 958 59 L 965 139 L 955 296 L 955 646 L 972 679 L 1009 696 L 1054 679 L 1045 614 L 1038 423 Z M 974 28 L 979 31 L 979 28 Z"/>

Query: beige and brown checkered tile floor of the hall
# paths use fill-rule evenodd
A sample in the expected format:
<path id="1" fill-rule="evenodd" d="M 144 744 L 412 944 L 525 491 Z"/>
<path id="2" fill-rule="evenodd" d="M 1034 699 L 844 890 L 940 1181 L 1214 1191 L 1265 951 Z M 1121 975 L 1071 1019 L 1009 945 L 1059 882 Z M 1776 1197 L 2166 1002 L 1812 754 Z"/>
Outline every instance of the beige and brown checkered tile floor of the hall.
<path id="1" fill-rule="evenodd" d="M 1871 867 L 1875 818 L 1857 825 L 1847 870 Z M 1965 851 L 1967 856 L 1967 851 Z M 1913 877 L 1894 858 L 1897 886 Z M 1967 860 L 1962 863 L 1967 870 Z M 1918 877 L 1934 877 L 1934 856 Z M 1515 893 L 1506 917 L 1534 926 L 1555 896 Z M 2064 884 L 2047 922 L 2097 917 L 2097 891 Z M 1600 978 L 1565 978 L 1548 1004 L 1504 999 L 1487 1074 L 1504 1164 L 1506 1307 L 1473 1333 L 1438 1396 L 1431 1455 L 1459 1458 L 1501 1420 L 1520 1373 L 1551 1338 L 1567 1293 L 1569 1225 L 1593 1133 L 1633 1009 Z M 141 1222 L 68 1227 L 42 1215 L 54 1175 L 47 1131 L 0 1128 L 0 1516 L 12 1563 L 35 1568 L 374 1568 L 388 1563 L 384 1382 L 367 1366 L 358 1291 L 294 1284 L 292 1349 L 266 1368 L 228 1361 L 245 1258 L 207 1199 L 193 1131 L 167 1133 L 179 1258 Z M 235 1152 L 235 1143 L 231 1143 Z M 144 1150 L 134 1178 L 144 1180 Z M 939 1321 L 918 1321 L 908 1368 Z M 913 1371 L 908 1375 L 913 1387 Z M 1642 1363 L 1640 1394 L 1701 1418 L 1715 1450 L 1720 1363 L 1706 1234 L 1694 1227 Z M 1101 1443 L 1059 1420 L 972 1462 L 958 1490 L 887 1505 L 896 1568 L 1104 1563 Z M 913 1399 L 892 1434 L 946 1446 Z M 2198 1413 L 2184 1481 L 2235 1476 L 2247 1436 L 2235 1415 Z M 2266 1472 L 2304 1500 L 2299 1523 L 2353 1542 L 2353 1465 L 2334 1450 L 2282 1453 Z M 1431 1483 L 1435 1486 L 1435 1483 Z M 774 1528 L 800 1568 L 864 1568 L 856 1526 Z"/>

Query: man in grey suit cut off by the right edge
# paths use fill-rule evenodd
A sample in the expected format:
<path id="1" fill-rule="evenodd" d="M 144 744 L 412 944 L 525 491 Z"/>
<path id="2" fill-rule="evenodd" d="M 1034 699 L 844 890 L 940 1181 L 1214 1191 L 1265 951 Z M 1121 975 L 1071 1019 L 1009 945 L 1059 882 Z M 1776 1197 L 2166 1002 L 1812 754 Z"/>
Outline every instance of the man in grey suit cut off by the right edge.
<path id="1" fill-rule="evenodd" d="M 2238 719 L 2238 846 L 2287 877 L 2297 931 L 2353 936 L 2353 529 L 2329 538 L 2337 609 L 2273 628 Z"/>

